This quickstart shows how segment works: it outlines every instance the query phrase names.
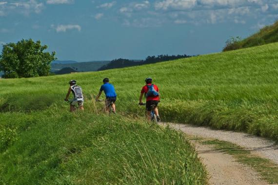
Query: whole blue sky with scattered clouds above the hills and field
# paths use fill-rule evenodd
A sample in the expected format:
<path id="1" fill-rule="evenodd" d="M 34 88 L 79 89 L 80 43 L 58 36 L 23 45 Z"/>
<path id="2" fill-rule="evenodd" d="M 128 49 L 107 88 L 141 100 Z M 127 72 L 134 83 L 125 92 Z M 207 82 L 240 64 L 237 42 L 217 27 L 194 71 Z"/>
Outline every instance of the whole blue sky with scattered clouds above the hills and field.
<path id="1" fill-rule="evenodd" d="M 220 52 L 278 19 L 278 0 L 0 0 L 0 44 L 32 38 L 60 60 Z"/>

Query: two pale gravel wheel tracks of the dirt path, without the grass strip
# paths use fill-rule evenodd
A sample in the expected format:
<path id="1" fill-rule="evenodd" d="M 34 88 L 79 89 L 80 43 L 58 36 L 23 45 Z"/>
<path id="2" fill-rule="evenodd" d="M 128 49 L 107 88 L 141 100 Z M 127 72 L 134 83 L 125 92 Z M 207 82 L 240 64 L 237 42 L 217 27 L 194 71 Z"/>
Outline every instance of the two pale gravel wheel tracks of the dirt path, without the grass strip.
<path id="1" fill-rule="evenodd" d="M 170 127 L 192 136 L 234 143 L 278 164 L 278 146 L 273 141 L 241 132 L 213 130 L 186 124 L 161 123 L 160 125 L 166 126 L 168 124 Z M 268 185 L 266 181 L 261 180 L 255 170 L 236 162 L 231 155 L 214 152 L 215 149 L 207 145 L 192 142 L 193 145 L 196 145 L 199 156 L 203 158 L 203 164 L 206 165 L 210 175 L 209 183 L 211 185 Z"/>

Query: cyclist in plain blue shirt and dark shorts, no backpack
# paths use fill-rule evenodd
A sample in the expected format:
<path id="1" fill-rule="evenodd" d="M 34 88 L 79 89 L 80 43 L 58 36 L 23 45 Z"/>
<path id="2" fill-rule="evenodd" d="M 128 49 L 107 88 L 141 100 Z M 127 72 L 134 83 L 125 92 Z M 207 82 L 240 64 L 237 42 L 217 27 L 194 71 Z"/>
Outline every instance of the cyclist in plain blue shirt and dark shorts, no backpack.
<path id="1" fill-rule="evenodd" d="M 115 102 L 117 100 L 117 94 L 115 88 L 112 84 L 109 83 L 109 78 L 104 78 L 102 80 L 103 85 L 100 87 L 99 94 L 96 97 L 96 101 L 99 101 L 99 96 L 102 91 L 104 91 L 106 100 L 105 100 L 105 111 L 109 112 L 110 106 L 112 106 L 113 113 L 116 113 Z"/>

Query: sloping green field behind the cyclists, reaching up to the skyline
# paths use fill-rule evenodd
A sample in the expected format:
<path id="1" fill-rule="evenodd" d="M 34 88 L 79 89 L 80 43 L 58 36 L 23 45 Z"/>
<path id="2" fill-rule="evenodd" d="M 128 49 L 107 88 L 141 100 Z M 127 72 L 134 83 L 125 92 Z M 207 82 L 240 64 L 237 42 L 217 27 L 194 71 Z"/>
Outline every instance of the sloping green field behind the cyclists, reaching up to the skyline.
<path id="1" fill-rule="evenodd" d="M 87 103 L 109 77 L 117 109 L 143 115 L 138 106 L 145 77 L 159 86 L 162 120 L 246 131 L 278 140 L 278 43 L 220 54 L 94 73 L 0 80 L 0 110 L 43 110 L 62 104 L 70 79 Z"/>

